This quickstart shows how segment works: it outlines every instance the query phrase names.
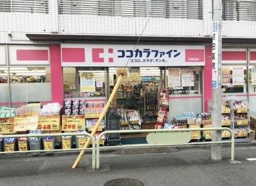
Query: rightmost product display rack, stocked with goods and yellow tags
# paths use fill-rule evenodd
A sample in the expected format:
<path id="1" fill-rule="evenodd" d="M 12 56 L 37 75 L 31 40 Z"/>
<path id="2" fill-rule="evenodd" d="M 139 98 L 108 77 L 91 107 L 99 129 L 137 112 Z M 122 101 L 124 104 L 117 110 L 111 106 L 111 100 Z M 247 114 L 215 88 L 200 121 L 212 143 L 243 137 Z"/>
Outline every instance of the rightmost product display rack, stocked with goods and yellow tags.
<path id="1" fill-rule="evenodd" d="M 231 100 L 233 108 L 233 131 L 236 142 L 245 142 L 249 140 L 250 117 L 249 104 L 247 100 Z"/>

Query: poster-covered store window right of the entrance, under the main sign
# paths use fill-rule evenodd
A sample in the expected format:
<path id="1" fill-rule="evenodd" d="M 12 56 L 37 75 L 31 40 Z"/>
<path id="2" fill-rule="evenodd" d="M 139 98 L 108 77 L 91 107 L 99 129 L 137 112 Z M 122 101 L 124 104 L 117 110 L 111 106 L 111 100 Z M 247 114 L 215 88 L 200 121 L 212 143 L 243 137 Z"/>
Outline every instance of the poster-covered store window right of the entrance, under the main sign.
<path id="1" fill-rule="evenodd" d="M 201 94 L 201 67 L 167 68 L 166 75 L 169 94 Z"/>

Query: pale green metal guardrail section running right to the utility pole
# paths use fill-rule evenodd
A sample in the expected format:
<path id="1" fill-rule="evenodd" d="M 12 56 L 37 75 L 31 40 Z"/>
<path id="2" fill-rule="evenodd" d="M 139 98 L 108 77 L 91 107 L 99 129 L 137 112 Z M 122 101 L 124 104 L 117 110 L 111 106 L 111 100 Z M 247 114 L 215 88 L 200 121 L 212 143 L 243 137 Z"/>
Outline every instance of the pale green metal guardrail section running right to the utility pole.
<path id="1" fill-rule="evenodd" d="M 169 144 L 155 144 L 155 145 L 125 145 L 125 146 L 118 146 L 118 147 L 138 147 L 138 146 L 163 146 L 163 145 L 195 145 L 195 144 L 218 144 L 218 143 L 231 143 L 231 161 L 234 161 L 234 133 L 230 128 L 227 127 L 216 127 L 216 128 L 184 128 L 184 129 L 142 129 L 139 130 L 139 132 L 150 132 L 150 134 L 152 132 L 154 132 L 155 134 L 158 132 L 169 132 L 169 133 L 173 133 L 173 132 L 178 132 L 178 131 L 182 131 L 182 132 L 188 132 L 188 131 L 206 131 L 206 130 L 228 130 L 230 132 L 231 135 L 231 141 L 219 141 L 219 142 L 196 142 L 196 143 L 169 143 Z M 138 133 L 138 130 L 108 130 L 108 131 L 104 131 L 102 132 L 99 136 L 98 139 L 96 141 L 96 169 L 99 169 L 100 167 L 100 158 L 99 158 L 99 142 L 100 142 L 100 138 L 103 135 L 106 134 L 121 134 L 121 133 Z M 106 148 L 113 148 L 113 147 L 104 147 L 104 149 Z"/>

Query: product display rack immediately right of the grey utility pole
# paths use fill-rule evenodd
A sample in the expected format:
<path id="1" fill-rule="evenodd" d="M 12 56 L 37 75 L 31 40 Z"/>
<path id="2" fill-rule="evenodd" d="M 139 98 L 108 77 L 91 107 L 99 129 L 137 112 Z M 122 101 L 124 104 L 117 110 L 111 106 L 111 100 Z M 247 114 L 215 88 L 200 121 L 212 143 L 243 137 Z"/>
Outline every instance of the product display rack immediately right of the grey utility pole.
<path id="1" fill-rule="evenodd" d="M 222 121 L 221 125 L 222 127 L 228 127 L 231 130 L 233 130 L 233 113 L 232 113 L 232 102 L 229 101 L 222 101 L 222 109 L 221 109 L 221 115 L 222 115 Z M 230 138 L 230 132 L 227 130 L 222 131 L 222 139 L 228 139 Z"/>

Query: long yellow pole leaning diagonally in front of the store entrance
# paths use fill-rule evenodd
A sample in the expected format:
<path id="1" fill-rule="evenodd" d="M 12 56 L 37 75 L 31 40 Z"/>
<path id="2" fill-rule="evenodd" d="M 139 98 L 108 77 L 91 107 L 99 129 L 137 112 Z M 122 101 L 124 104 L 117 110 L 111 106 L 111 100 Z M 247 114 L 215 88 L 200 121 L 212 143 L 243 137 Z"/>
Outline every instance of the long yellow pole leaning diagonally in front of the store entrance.
<path id="1" fill-rule="evenodd" d="M 92 136 L 95 135 L 95 133 L 96 133 L 96 131 L 97 131 L 97 128 L 99 127 L 99 125 L 100 125 L 102 119 L 105 117 L 106 112 L 108 112 L 108 110 L 109 110 L 109 108 L 110 108 L 110 104 L 111 104 L 111 102 L 112 102 L 113 99 L 114 99 L 114 96 L 115 96 L 116 91 L 117 91 L 117 89 L 118 89 L 118 87 L 119 87 L 119 85 L 120 85 L 120 83 L 121 83 L 121 81 L 122 81 L 122 78 L 123 78 L 123 74 L 121 73 L 120 76 L 119 76 L 118 79 L 117 79 L 116 85 L 115 85 L 115 87 L 114 87 L 114 89 L 113 89 L 113 91 L 112 91 L 112 93 L 111 93 L 111 95 L 110 95 L 110 98 L 109 98 L 108 102 L 106 102 L 105 108 L 104 108 L 103 112 L 101 113 L 101 115 L 100 115 L 100 117 L 99 117 L 99 119 L 98 119 L 98 122 L 96 123 L 96 125 L 94 126 L 94 128 L 93 128 L 93 130 L 92 130 L 92 132 L 91 132 L 91 135 L 92 135 Z M 89 146 L 90 142 L 91 142 L 91 138 L 88 139 L 88 141 L 87 141 L 86 144 L 83 146 L 83 148 L 87 148 L 87 147 Z M 80 160 L 81 160 L 81 158 L 82 158 L 82 156 L 83 156 L 83 154 L 84 154 L 85 152 L 86 152 L 86 150 L 81 150 L 80 154 L 78 155 L 78 157 L 77 157 L 77 159 L 76 159 L 76 161 L 75 161 L 75 163 L 74 163 L 74 165 L 73 165 L 73 167 L 72 167 L 73 169 L 77 167 L 77 165 L 79 164 L 79 162 L 80 162 Z"/>

